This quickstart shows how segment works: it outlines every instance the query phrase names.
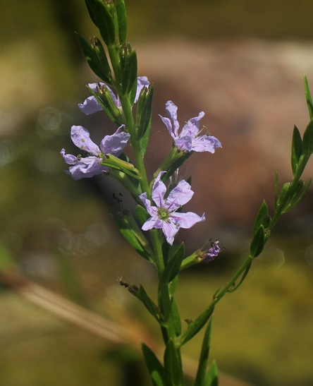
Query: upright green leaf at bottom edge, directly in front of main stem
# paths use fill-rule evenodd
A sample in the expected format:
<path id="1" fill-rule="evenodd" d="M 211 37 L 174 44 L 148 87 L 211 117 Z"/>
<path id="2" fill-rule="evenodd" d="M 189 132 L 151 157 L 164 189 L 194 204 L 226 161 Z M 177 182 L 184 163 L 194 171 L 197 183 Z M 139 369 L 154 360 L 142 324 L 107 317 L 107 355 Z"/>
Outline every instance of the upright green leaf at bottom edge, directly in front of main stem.
<path id="1" fill-rule="evenodd" d="M 164 369 L 170 385 L 183 385 L 183 373 L 178 351 L 173 339 L 168 339 L 164 351 Z"/>

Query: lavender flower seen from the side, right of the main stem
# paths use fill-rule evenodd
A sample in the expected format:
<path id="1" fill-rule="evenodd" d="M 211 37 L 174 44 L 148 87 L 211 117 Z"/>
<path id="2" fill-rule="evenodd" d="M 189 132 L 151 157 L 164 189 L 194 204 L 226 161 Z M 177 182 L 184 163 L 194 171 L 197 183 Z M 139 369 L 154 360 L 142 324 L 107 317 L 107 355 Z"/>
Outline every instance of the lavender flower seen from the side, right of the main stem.
<path id="1" fill-rule="evenodd" d="M 200 135 L 199 121 L 204 116 L 201 111 L 198 116 L 191 118 L 178 134 L 179 123 L 177 120 L 177 106 L 171 100 L 166 102 L 166 112 L 171 119 L 161 116 L 161 120 L 165 123 L 168 132 L 174 140 L 176 147 L 185 152 L 211 152 L 214 153 L 216 147 L 221 147 L 219 140 L 211 135 Z"/>

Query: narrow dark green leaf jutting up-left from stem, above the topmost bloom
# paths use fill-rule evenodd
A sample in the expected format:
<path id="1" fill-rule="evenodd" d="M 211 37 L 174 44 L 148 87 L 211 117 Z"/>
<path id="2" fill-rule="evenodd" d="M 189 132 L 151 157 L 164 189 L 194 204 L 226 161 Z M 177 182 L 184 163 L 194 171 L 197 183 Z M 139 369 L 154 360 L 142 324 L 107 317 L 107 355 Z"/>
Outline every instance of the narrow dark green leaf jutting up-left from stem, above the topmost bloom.
<path id="1" fill-rule="evenodd" d="M 90 44 L 83 39 L 78 32 L 75 32 L 78 38 L 78 43 L 80 44 L 80 48 L 82 49 L 82 54 L 84 54 L 87 64 L 90 66 L 92 71 L 99 76 L 105 83 L 111 85 L 111 70 L 109 71 L 106 68 L 105 61 L 100 61 L 97 52 L 94 52 L 94 49 L 90 47 Z"/>

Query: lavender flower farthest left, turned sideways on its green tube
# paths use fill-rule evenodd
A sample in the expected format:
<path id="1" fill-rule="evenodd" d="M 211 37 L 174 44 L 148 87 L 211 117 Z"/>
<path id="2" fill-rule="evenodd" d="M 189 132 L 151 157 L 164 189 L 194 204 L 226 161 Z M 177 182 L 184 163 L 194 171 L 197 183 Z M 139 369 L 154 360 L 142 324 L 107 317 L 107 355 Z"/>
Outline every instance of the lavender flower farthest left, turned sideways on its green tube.
<path id="1" fill-rule="evenodd" d="M 118 157 L 121 155 L 123 148 L 126 146 L 130 135 L 122 131 L 124 125 L 119 127 L 116 133 L 106 135 L 101 141 L 100 148 L 90 139 L 90 133 L 82 126 L 72 126 L 70 130 L 70 138 L 73 143 L 81 150 L 85 150 L 87 157 L 75 157 L 75 155 L 66 154 L 65 150 L 61 150 L 67 164 L 73 165 L 66 170 L 66 174 L 70 174 L 73 179 L 89 178 L 97 174 L 108 171 L 109 167 L 99 164 L 108 154 Z"/>

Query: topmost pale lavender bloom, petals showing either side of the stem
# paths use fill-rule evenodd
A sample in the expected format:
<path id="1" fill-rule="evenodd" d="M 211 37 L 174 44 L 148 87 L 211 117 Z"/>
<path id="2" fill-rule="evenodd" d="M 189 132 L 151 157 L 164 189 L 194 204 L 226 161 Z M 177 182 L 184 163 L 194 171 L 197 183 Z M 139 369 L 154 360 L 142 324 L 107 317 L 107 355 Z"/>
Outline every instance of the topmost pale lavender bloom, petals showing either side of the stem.
<path id="1" fill-rule="evenodd" d="M 135 103 L 138 100 L 138 97 L 140 95 L 140 91 L 142 90 L 142 88 L 148 87 L 149 84 L 150 83 L 147 76 L 140 76 L 137 78 L 137 91 L 136 91 Z M 106 85 L 105 83 L 88 83 L 88 87 L 91 88 L 93 92 L 97 92 L 97 88 L 99 87 L 105 87 L 109 91 L 116 107 L 118 109 L 121 109 L 120 99 L 116 97 L 116 95 L 111 90 L 111 88 L 109 88 L 108 85 Z M 94 114 L 95 112 L 102 110 L 101 104 L 99 104 L 99 102 L 93 95 L 91 97 L 87 97 L 87 99 L 85 99 L 83 103 L 79 103 L 78 108 L 86 115 Z"/>

